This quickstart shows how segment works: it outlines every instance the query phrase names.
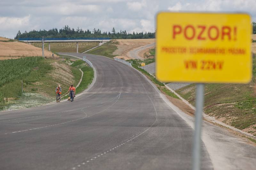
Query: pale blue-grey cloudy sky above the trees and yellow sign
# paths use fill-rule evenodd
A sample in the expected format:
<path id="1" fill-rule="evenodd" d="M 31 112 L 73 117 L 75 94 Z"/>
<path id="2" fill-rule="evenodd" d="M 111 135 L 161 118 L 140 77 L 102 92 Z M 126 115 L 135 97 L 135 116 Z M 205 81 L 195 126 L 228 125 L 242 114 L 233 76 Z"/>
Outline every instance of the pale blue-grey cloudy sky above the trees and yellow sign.
<path id="1" fill-rule="evenodd" d="M 158 11 L 239 11 L 256 21 L 255 0 L 0 0 L 0 36 L 64 25 L 153 32 Z"/>

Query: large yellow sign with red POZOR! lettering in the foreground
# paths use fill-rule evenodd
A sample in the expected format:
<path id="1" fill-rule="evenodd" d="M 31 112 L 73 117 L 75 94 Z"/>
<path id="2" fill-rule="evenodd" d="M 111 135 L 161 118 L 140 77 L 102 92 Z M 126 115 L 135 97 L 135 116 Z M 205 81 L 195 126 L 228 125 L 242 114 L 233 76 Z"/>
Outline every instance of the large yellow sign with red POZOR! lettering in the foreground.
<path id="1" fill-rule="evenodd" d="M 156 23 L 158 80 L 251 81 L 252 25 L 248 14 L 161 12 Z"/>

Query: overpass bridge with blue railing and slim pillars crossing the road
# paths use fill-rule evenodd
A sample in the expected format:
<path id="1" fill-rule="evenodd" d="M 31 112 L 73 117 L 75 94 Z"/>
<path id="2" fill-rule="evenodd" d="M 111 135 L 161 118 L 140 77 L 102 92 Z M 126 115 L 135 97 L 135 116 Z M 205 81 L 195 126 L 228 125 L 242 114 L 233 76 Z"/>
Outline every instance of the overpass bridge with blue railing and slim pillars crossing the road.
<path id="1" fill-rule="evenodd" d="M 26 43 L 42 42 L 42 55 L 44 57 L 44 43 L 49 43 L 49 51 L 51 51 L 51 42 L 76 42 L 76 53 L 78 53 L 79 42 L 99 42 L 99 46 L 110 41 L 110 38 L 21 38 L 19 41 Z"/>

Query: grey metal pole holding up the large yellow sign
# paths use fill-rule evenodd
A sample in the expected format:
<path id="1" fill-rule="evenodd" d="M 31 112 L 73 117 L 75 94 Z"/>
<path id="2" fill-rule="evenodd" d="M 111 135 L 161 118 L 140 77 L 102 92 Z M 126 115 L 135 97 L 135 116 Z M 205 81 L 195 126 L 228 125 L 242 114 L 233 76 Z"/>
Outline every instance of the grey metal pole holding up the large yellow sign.
<path id="1" fill-rule="evenodd" d="M 201 166 L 201 131 L 202 112 L 204 107 L 204 84 L 196 85 L 196 113 L 195 113 L 195 134 L 193 145 L 193 170 L 200 170 Z"/>

